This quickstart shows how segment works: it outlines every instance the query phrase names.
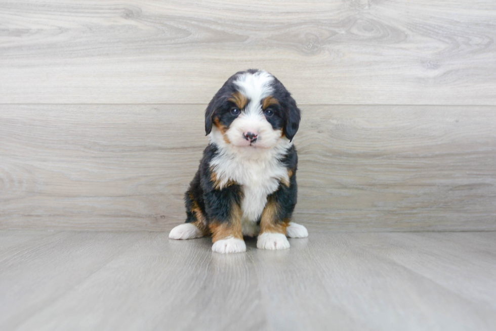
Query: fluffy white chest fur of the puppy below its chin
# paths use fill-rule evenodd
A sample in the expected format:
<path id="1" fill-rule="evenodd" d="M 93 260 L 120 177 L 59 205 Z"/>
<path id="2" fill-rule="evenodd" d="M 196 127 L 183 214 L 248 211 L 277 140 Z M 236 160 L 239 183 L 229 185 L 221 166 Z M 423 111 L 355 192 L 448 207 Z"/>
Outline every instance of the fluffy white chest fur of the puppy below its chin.
<path id="1" fill-rule="evenodd" d="M 279 161 L 289 147 L 291 143 L 286 140 L 273 149 L 221 150 L 211 161 L 221 186 L 229 180 L 241 185 L 243 223 L 257 222 L 267 204 L 267 196 L 277 190 L 281 179 L 289 180 L 286 167 Z"/>

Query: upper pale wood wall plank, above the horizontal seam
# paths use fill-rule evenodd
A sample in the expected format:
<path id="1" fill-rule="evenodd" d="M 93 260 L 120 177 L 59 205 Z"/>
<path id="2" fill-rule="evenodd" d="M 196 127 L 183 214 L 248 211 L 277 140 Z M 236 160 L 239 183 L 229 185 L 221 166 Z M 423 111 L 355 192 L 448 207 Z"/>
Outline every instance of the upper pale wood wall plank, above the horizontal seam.
<path id="1" fill-rule="evenodd" d="M 496 3 L 2 1 L 0 103 L 208 103 L 263 68 L 300 104 L 496 105 Z"/>

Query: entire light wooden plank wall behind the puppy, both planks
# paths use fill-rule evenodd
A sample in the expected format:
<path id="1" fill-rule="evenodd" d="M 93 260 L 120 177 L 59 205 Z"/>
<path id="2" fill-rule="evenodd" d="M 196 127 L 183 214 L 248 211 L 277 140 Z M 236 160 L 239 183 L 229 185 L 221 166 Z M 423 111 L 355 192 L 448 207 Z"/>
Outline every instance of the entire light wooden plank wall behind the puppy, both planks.
<path id="1" fill-rule="evenodd" d="M 303 111 L 295 218 L 496 230 L 493 1 L 0 1 L 0 229 L 166 230 L 246 68 Z"/>

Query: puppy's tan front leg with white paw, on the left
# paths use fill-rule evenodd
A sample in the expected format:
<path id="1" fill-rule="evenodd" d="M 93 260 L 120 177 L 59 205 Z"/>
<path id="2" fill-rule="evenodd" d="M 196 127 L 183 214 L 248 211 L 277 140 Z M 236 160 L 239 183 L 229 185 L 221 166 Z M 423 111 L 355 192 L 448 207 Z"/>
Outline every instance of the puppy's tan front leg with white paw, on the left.
<path id="1" fill-rule="evenodd" d="M 229 209 L 228 219 L 213 220 L 209 224 L 214 243 L 212 251 L 217 253 L 245 252 L 246 245 L 241 230 L 241 208 L 233 201 Z"/>

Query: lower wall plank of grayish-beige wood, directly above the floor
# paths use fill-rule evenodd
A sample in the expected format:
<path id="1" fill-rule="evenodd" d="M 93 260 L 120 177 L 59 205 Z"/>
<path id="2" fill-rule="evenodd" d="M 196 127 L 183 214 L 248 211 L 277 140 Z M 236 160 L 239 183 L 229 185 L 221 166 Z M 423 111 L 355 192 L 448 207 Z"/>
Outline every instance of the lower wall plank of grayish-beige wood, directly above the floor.
<path id="1" fill-rule="evenodd" d="M 205 105 L 0 106 L 0 228 L 162 231 L 207 144 Z M 496 112 L 305 106 L 295 220 L 496 230 Z"/>

